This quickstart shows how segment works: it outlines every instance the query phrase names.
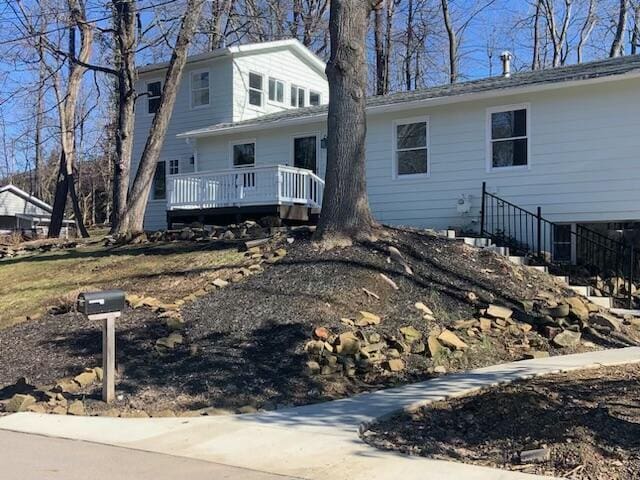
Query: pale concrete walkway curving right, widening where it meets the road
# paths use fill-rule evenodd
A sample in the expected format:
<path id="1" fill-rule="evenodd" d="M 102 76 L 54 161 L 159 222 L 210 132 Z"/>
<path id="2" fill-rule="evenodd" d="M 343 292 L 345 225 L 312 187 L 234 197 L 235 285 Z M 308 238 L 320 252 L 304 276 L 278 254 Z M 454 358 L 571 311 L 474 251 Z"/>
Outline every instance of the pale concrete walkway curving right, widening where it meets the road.
<path id="1" fill-rule="evenodd" d="M 527 360 L 305 407 L 227 417 L 113 419 L 21 413 L 0 430 L 85 440 L 304 479 L 516 480 L 542 478 L 373 449 L 363 424 L 521 378 L 640 362 L 640 348 Z"/>

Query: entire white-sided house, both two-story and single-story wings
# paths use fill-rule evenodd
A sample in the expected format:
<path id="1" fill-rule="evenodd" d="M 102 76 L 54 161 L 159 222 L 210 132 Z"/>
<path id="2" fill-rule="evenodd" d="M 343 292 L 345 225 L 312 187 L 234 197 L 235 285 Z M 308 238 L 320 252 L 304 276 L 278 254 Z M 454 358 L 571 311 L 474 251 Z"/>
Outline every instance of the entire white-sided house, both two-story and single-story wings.
<path id="1" fill-rule="evenodd" d="M 328 101 L 321 63 L 295 41 L 196 58 L 162 155 L 167 183 L 156 182 L 166 199 L 150 202 L 146 227 L 165 227 L 166 212 L 193 221 L 250 206 L 317 209 Z M 204 65 L 207 93 L 194 87 Z M 284 84 L 275 104 L 272 79 Z M 293 85 L 307 89 L 305 105 L 312 90 L 320 105 L 293 108 Z M 197 95 L 210 105 L 195 108 Z M 640 221 L 640 56 L 370 97 L 367 123 L 367 186 L 380 222 L 478 230 L 483 183 L 569 229 Z"/>

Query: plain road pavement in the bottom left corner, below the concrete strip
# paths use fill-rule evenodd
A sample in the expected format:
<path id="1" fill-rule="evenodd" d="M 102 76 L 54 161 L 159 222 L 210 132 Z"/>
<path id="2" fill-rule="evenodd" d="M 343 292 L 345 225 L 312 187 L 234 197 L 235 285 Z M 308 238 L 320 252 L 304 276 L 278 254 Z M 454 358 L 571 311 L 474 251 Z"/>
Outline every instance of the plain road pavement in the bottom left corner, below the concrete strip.
<path id="1" fill-rule="evenodd" d="M 294 480 L 157 453 L 0 430 L 2 480 Z"/>

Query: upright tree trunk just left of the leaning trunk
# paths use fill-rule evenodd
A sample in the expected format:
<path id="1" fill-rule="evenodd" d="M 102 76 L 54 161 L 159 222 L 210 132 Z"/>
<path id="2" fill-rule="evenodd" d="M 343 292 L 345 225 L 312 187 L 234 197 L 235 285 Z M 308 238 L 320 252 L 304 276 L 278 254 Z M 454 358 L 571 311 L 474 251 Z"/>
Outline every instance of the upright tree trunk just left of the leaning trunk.
<path id="1" fill-rule="evenodd" d="M 125 216 L 133 152 L 135 125 L 136 4 L 129 0 L 114 1 L 116 30 L 117 119 L 115 131 L 115 165 L 113 175 L 113 217 L 111 232 L 118 231 Z"/>

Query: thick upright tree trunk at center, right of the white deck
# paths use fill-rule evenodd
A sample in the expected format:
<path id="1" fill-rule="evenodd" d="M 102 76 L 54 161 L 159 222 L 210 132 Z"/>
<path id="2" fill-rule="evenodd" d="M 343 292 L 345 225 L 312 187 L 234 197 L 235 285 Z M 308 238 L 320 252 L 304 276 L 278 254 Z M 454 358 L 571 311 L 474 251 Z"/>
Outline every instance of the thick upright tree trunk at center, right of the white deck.
<path id="1" fill-rule="evenodd" d="M 325 246 L 370 237 L 367 199 L 365 37 L 375 0 L 333 0 L 329 30 L 327 178 L 316 238 Z"/>

